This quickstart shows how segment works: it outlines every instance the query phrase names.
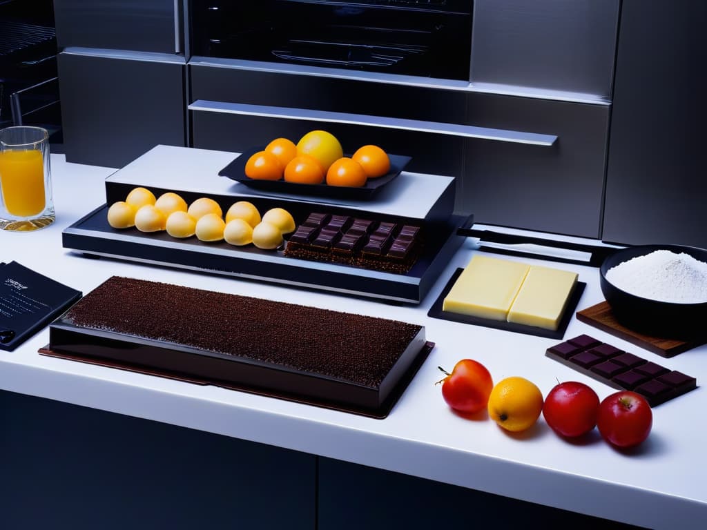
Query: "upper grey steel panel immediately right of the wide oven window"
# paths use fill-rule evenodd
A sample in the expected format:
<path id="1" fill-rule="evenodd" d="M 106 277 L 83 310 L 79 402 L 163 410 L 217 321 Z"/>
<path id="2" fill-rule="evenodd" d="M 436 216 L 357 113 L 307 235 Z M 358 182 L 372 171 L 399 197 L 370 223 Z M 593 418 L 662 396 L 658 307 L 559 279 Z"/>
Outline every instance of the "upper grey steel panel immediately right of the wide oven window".
<path id="1" fill-rule="evenodd" d="M 472 83 L 611 98 L 619 0 L 476 0 Z"/>

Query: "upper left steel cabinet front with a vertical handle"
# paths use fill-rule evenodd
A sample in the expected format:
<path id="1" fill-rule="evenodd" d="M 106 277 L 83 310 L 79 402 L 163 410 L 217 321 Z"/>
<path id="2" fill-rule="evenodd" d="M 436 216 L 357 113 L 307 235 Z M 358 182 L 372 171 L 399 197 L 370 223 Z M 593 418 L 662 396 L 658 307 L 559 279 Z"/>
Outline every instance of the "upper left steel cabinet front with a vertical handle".
<path id="1" fill-rule="evenodd" d="M 177 1 L 54 0 L 57 43 L 59 47 L 180 52 Z"/>

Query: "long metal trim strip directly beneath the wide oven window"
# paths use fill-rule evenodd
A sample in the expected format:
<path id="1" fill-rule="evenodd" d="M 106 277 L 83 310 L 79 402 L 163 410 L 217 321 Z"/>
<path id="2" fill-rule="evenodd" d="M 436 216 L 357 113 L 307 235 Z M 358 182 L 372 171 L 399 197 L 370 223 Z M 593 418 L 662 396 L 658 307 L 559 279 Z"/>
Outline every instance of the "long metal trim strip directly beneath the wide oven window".
<path id="1" fill-rule="evenodd" d="M 187 64 L 190 66 L 210 66 L 213 68 L 233 70 L 286 73 L 303 76 L 349 79 L 351 81 L 368 81 L 371 83 L 415 86 L 421 88 L 457 90 L 466 93 L 513 95 L 521 98 L 589 103 L 592 105 L 611 105 L 610 98 L 589 93 L 533 88 L 527 86 L 503 85 L 500 83 L 472 83 L 469 81 L 457 81 L 454 79 L 404 76 L 393 73 L 373 73 L 365 71 L 352 73 L 348 70 L 327 68 L 325 66 L 299 66 L 265 61 L 247 61 L 245 59 L 219 59 L 216 57 L 202 57 L 196 55 L 189 59 Z"/>

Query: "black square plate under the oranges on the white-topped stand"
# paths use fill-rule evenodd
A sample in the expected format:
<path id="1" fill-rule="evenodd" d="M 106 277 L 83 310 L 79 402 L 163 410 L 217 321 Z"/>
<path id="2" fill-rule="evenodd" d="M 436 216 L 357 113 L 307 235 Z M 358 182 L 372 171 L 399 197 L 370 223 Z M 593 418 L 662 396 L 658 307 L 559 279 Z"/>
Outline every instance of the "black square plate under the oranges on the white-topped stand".
<path id="1" fill-rule="evenodd" d="M 218 172 L 218 175 L 221 175 L 221 177 L 228 177 L 236 182 L 240 182 L 240 184 L 245 184 L 248 187 L 259 189 L 264 192 L 367 201 L 373 199 L 376 192 L 395 180 L 395 178 L 400 175 L 400 172 L 404 170 L 404 167 L 411 160 L 411 157 L 409 156 L 388 155 L 388 158 L 390 158 L 390 171 L 387 172 L 386 175 L 375 179 L 368 179 L 365 186 L 354 188 L 328 186 L 327 184 L 298 184 L 297 182 L 286 182 L 282 179 L 251 179 L 245 175 L 245 163 L 251 155 L 262 150 L 262 147 L 248 149 L 238 156 L 238 158 L 235 158 L 233 162 L 224 167 L 220 172 Z"/>

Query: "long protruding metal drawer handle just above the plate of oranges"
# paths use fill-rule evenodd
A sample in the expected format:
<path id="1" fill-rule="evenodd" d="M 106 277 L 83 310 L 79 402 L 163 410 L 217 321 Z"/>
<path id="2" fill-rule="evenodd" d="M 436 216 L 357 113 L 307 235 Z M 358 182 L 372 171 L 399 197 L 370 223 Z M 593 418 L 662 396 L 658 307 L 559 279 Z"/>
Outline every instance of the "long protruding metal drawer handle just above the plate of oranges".
<path id="1" fill-rule="evenodd" d="M 324 110 L 298 109 L 292 107 L 271 107 L 269 105 L 248 105 L 245 103 L 228 103 L 220 101 L 196 100 L 188 106 L 189 110 L 204 112 L 223 112 L 226 114 L 245 114 L 249 116 L 303 119 L 315 122 L 344 123 L 351 125 L 366 125 L 387 129 L 404 129 L 407 131 L 446 134 L 449 136 L 464 136 L 511 143 L 526 143 L 534 146 L 552 146 L 557 136 L 537 134 L 525 131 L 508 131 L 491 129 L 473 125 L 462 125 L 443 122 L 424 122 L 419 119 L 402 119 L 367 114 L 349 114 L 345 112 L 329 112 Z"/>

